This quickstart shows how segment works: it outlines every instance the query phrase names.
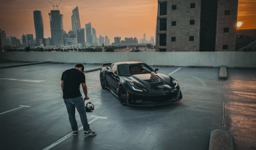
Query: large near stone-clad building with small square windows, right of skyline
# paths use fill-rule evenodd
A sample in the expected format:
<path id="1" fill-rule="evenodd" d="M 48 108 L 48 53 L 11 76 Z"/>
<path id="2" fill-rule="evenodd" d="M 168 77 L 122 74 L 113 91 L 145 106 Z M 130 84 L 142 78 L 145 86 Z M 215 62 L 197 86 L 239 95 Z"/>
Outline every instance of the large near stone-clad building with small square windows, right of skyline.
<path id="1" fill-rule="evenodd" d="M 156 51 L 234 51 L 238 0 L 158 0 Z"/>

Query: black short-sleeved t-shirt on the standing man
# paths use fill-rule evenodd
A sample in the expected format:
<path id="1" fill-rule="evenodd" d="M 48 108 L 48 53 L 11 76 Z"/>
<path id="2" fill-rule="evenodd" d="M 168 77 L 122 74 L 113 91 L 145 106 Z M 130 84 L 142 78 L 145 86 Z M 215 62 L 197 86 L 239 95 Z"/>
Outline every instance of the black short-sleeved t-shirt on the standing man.
<path id="1" fill-rule="evenodd" d="M 85 83 L 85 74 L 77 69 L 68 69 L 61 75 L 63 81 L 63 98 L 76 98 L 82 96 L 81 83 Z"/>

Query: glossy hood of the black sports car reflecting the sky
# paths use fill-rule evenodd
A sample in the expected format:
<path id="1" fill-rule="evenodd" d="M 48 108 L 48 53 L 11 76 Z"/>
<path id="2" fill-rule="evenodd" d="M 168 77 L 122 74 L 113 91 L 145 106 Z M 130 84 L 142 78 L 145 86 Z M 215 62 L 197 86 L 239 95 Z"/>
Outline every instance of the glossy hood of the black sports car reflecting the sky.
<path id="1" fill-rule="evenodd" d="M 173 85 L 171 84 L 171 78 L 167 75 L 156 74 L 154 72 L 147 74 L 139 74 L 139 75 L 131 75 L 130 77 L 126 77 L 131 81 L 135 81 L 139 83 L 141 86 L 146 88 L 147 90 L 156 90 L 156 91 L 170 91 L 173 89 Z M 165 79 L 163 79 L 165 78 Z"/>

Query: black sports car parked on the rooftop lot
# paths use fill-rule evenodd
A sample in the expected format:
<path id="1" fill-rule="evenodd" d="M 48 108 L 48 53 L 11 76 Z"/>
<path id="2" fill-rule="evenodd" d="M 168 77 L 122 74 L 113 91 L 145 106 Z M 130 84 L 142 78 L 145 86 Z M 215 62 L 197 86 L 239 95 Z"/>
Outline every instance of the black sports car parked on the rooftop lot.
<path id="1" fill-rule="evenodd" d="M 118 97 L 122 105 L 167 105 L 182 100 L 176 79 L 156 73 L 143 62 L 103 64 L 100 85 Z"/>

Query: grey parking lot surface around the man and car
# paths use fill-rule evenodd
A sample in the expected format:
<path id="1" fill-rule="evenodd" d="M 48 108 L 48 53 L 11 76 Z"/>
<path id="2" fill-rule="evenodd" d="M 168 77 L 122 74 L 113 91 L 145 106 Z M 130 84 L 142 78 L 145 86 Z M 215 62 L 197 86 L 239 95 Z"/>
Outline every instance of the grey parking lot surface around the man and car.
<path id="1" fill-rule="evenodd" d="M 2 62 L 1 62 L 2 63 Z M 1 64 L 0 63 L 0 64 Z M 99 71 L 85 73 L 87 113 L 94 137 L 72 136 L 62 99 L 61 73 L 74 64 L 35 64 L 0 69 L 1 149 L 197 149 L 209 147 L 215 129 L 231 131 L 237 149 L 255 149 L 256 71 L 158 67 L 177 79 L 180 102 L 162 107 L 124 107 L 100 87 Z M 85 70 L 99 65 L 85 65 Z M 81 121 L 76 112 L 79 126 Z"/>

